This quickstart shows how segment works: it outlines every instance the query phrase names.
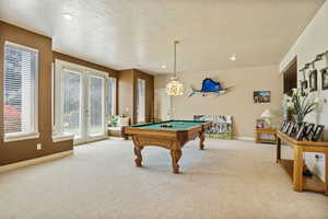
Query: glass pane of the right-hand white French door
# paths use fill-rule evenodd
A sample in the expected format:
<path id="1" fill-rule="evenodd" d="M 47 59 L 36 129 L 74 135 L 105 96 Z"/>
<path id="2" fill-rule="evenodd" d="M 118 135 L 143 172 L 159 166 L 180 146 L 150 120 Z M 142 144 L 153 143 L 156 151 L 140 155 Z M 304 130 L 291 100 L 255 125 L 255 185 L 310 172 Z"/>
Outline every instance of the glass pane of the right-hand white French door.
<path id="1" fill-rule="evenodd" d="M 89 137 L 103 137 L 105 134 L 105 79 L 89 77 L 87 120 Z"/>

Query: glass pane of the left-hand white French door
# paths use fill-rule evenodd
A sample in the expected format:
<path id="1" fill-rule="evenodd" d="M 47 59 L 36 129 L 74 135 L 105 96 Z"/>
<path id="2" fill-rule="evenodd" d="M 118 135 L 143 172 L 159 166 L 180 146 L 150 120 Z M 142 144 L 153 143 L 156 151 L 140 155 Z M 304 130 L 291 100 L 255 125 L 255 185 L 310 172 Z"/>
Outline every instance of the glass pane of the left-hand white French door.
<path id="1" fill-rule="evenodd" d="M 65 70 L 63 85 L 63 132 L 73 134 L 75 139 L 82 138 L 82 77 L 81 73 Z"/>

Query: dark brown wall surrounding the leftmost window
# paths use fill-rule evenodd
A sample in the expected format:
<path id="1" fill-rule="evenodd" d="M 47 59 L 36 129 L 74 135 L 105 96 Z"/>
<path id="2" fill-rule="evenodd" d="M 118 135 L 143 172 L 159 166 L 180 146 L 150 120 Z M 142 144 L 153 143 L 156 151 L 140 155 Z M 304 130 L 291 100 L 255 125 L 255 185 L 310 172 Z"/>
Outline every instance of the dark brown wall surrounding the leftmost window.
<path id="1" fill-rule="evenodd" d="M 3 45 L 9 41 L 39 51 L 38 139 L 3 141 Z M 0 21 L 0 165 L 72 150 L 72 140 L 51 139 L 51 38 Z M 42 143 L 42 150 L 36 145 Z"/>

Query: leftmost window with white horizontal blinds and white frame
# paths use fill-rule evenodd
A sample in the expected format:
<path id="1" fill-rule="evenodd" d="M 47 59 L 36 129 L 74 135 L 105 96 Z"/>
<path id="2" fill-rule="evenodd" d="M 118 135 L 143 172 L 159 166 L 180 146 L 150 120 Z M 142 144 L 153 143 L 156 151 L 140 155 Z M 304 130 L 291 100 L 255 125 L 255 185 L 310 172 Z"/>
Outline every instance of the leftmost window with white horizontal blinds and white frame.
<path id="1" fill-rule="evenodd" d="M 38 51 L 4 44 L 4 136 L 37 135 Z"/>

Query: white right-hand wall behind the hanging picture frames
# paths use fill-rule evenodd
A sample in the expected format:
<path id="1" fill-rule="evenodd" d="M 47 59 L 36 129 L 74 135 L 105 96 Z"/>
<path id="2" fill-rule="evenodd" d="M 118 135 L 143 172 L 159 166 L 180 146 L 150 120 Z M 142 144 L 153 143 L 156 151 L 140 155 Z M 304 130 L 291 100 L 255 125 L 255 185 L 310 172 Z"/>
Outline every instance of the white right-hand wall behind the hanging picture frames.
<path id="1" fill-rule="evenodd" d="M 297 56 L 297 69 L 302 69 L 306 62 L 312 61 L 316 55 L 328 50 L 328 2 L 326 1 L 317 12 L 312 22 L 307 25 L 296 43 L 285 55 L 280 64 L 282 71 L 291 60 Z M 328 56 L 316 64 L 318 70 L 328 66 Z M 298 81 L 303 76 L 298 73 Z M 308 73 L 307 73 L 308 79 Z M 298 84 L 300 85 L 300 84 Z M 328 99 L 328 90 L 321 90 L 321 73 L 318 73 L 318 95 Z M 325 125 L 325 139 L 328 139 L 328 104 L 321 111 L 315 112 L 306 117 L 307 122 Z M 314 154 L 306 154 L 307 164 L 324 178 L 324 158 L 316 161 Z"/>

